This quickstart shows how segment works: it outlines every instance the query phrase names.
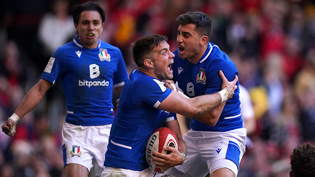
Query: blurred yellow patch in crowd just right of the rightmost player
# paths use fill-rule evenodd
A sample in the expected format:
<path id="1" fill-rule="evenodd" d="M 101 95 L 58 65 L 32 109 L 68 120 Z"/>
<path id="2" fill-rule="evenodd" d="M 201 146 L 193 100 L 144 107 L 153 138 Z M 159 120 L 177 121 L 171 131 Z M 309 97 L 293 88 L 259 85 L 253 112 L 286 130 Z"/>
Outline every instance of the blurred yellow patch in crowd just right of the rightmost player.
<path id="1" fill-rule="evenodd" d="M 252 107 L 255 113 L 255 118 L 259 119 L 268 110 L 268 95 L 264 87 L 256 87 L 250 90 Z"/>

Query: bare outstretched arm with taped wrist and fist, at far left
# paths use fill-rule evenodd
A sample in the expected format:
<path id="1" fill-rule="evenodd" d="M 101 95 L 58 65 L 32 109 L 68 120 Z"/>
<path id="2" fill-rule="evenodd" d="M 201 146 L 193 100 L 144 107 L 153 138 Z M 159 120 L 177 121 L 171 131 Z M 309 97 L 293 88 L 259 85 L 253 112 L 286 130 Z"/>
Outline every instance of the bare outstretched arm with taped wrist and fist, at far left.
<path id="1" fill-rule="evenodd" d="M 35 106 L 43 99 L 46 91 L 52 86 L 52 83 L 44 79 L 39 81 L 30 89 L 30 91 L 23 98 L 19 107 L 15 110 L 14 114 L 3 123 L 2 131 L 13 136 L 15 133 L 15 125 L 20 118 L 23 118 L 28 112 L 35 108 Z"/>

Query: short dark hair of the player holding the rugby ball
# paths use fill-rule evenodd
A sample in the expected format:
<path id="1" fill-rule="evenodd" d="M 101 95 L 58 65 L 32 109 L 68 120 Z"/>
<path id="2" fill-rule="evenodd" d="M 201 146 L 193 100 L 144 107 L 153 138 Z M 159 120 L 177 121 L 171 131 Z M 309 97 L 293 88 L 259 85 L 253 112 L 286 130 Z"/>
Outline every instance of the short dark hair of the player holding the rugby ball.
<path id="1" fill-rule="evenodd" d="M 153 48 L 157 47 L 162 41 L 167 41 L 168 37 L 163 35 L 150 35 L 136 40 L 132 44 L 132 57 L 138 67 L 144 66 L 144 59 L 153 59 Z M 154 59 L 153 59 L 154 60 Z"/>

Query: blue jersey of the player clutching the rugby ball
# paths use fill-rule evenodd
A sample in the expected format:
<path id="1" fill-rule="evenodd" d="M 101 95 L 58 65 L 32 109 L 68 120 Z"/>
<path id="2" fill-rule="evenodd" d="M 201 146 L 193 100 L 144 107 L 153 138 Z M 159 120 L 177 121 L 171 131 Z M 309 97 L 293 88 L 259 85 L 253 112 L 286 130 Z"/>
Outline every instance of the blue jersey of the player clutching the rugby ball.
<path id="1" fill-rule="evenodd" d="M 175 113 L 157 109 L 171 92 L 158 79 L 139 70 L 129 75 L 109 136 L 104 166 L 142 171 L 149 166 L 145 148 L 151 134 Z"/>

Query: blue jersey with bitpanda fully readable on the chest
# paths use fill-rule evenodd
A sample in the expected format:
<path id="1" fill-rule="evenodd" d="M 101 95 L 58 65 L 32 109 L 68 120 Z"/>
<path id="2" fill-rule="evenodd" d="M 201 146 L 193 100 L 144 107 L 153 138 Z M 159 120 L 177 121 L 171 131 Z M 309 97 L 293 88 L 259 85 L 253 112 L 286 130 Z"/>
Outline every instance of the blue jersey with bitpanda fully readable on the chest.
<path id="1" fill-rule="evenodd" d="M 66 122 L 92 126 L 112 123 L 112 88 L 123 86 L 128 74 L 117 47 L 99 40 L 95 49 L 89 49 L 76 37 L 57 49 L 40 78 L 53 84 L 60 79 Z"/>

